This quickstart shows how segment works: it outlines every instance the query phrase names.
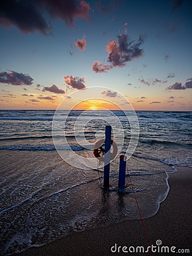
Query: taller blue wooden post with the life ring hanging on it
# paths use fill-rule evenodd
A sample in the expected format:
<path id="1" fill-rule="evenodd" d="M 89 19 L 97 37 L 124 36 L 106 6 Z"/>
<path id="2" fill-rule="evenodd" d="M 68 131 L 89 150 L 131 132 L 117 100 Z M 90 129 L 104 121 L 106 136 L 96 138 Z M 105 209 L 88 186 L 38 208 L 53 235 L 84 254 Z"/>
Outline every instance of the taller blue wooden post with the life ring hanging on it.
<path id="1" fill-rule="evenodd" d="M 109 175 L 110 175 L 110 160 L 111 160 L 111 126 L 105 127 L 105 166 L 104 166 L 104 181 L 103 186 L 109 187 Z"/>

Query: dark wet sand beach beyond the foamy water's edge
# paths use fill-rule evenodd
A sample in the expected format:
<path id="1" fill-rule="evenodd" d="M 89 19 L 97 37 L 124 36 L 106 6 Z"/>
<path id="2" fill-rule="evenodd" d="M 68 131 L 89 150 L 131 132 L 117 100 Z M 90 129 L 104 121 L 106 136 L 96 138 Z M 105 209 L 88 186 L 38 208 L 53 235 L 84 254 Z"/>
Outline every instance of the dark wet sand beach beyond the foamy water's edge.
<path id="1" fill-rule="evenodd" d="M 158 212 L 144 219 L 145 229 L 151 245 L 161 240 L 162 246 L 178 249 L 191 248 L 191 168 L 177 167 L 178 172 L 169 174 L 169 193 L 161 202 Z M 110 224 L 105 228 L 87 229 L 73 233 L 40 247 L 31 247 L 16 255 L 133 255 L 133 253 L 111 253 L 111 246 L 144 246 L 147 250 L 147 238 L 141 220 L 125 220 Z M 121 247 L 122 248 L 122 247 Z M 169 252 L 170 253 L 170 252 Z M 136 253 L 140 255 L 139 253 Z M 187 253 L 186 253 L 187 254 Z M 144 253 L 151 255 L 151 253 Z M 162 255 L 155 253 L 155 255 Z M 171 255 L 171 254 L 170 254 Z M 190 255 L 190 253 L 188 253 Z"/>

